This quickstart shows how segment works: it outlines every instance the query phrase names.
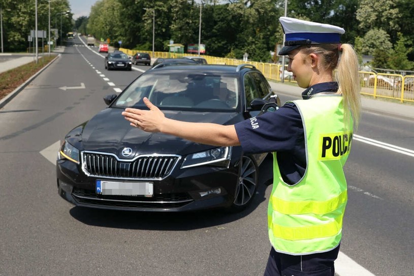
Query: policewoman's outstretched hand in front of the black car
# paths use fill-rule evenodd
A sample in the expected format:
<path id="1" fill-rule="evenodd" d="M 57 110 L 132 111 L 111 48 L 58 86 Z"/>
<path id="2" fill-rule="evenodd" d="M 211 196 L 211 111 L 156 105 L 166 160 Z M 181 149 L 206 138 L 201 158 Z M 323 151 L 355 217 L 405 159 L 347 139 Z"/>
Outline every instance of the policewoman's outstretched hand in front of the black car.
<path id="1" fill-rule="evenodd" d="M 165 121 L 164 113 L 154 106 L 148 98 L 143 99 L 149 110 L 141 110 L 136 108 L 126 108 L 122 112 L 122 116 L 131 122 L 131 126 L 139 128 L 146 132 L 161 132 L 163 122 Z"/>

